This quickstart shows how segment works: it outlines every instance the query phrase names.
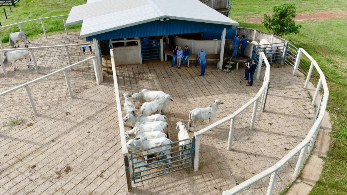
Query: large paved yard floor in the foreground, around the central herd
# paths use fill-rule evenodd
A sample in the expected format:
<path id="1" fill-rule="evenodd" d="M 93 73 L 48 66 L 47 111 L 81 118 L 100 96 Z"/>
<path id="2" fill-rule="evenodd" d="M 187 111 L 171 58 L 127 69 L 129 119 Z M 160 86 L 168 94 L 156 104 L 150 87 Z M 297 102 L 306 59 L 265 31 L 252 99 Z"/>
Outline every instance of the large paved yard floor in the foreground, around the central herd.
<path id="1" fill-rule="evenodd" d="M 187 124 L 189 111 L 224 102 L 214 121 L 250 100 L 261 83 L 239 83 L 243 70 L 224 73 L 209 65 L 177 69 L 169 63 L 117 67 L 120 93 L 143 88 L 171 94 L 167 107 L 170 138 L 177 140 L 176 122 Z M 236 119 L 233 149 L 227 151 L 229 124 L 202 136 L 200 167 L 181 170 L 134 185 L 130 194 L 221 194 L 269 168 L 307 135 L 314 109 L 289 67 L 271 67 L 265 112 L 258 112 L 249 130 L 252 108 Z M 140 104 L 136 103 L 139 111 Z M 32 125 L 32 126 L 30 126 Z M 197 126 L 206 127 L 207 121 Z M 130 127 L 126 124 L 126 129 Z M 193 133 L 190 133 L 193 136 Z M 43 112 L 12 130 L 0 130 L 0 192 L 2 194 L 127 194 L 112 78 L 84 90 L 74 99 Z M 297 157 L 278 173 L 274 194 L 291 183 Z M 269 178 L 244 194 L 266 194 Z"/>

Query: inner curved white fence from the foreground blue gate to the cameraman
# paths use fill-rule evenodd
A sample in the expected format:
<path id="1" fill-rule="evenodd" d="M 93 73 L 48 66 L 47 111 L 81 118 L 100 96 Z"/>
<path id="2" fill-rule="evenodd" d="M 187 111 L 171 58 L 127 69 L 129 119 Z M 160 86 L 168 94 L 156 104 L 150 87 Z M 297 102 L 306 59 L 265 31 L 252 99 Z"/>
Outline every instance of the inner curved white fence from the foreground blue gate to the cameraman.
<path id="1" fill-rule="evenodd" d="M 268 91 L 268 87 L 270 83 L 270 64 L 268 60 L 266 59 L 264 52 L 260 52 L 258 66 L 261 66 L 263 62 L 266 65 L 263 85 L 261 86 L 256 96 L 253 97 L 252 100 L 249 100 L 246 104 L 244 104 L 241 108 L 236 110 L 231 115 L 213 123 L 212 125 L 209 125 L 208 127 L 205 127 L 197 132 L 194 132 L 194 139 L 195 139 L 194 171 L 195 172 L 198 171 L 198 168 L 199 168 L 199 151 L 200 151 L 201 135 L 230 120 L 229 139 L 228 139 L 228 150 L 230 151 L 232 146 L 232 138 L 234 137 L 235 118 L 244 110 L 246 110 L 248 107 L 250 107 L 252 104 L 253 104 L 253 113 L 252 113 L 252 119 L 251 119 L 251 126 L 249 127 L 249 129 L 251 130 L 253 129 L 259 100 L 261 100 L 260 110 L 263 111 L 264 104 L 265 104 L 265 97 L 266 97 L 266 93 Z"/>

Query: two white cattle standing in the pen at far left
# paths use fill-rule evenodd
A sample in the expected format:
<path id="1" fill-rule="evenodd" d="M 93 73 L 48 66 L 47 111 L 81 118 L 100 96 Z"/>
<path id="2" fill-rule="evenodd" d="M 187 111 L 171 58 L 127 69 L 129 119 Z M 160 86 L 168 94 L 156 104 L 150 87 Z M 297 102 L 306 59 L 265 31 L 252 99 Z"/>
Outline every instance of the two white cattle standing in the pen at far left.
<path id="1" fill-rule="evenodd" d="M 12 48 L 17 48 L 16 44 L 19 47 L 18 41 L 22 40 L 25 44 L 25 47 L 27 48 L 28 47 L 28 44 L 26 43 L 27 38 L 28 38 L 28 36 L 23 32 L 10 33 L 9 44 Z M 28 50 L 5 51 L 4 56 L 5 56 L 5 58 L 3 59 L 3 64 L 7 67 L 13 66 L 14 70 L 17 69 L 16 65 L 15 65 L 15 62 L 17 60 L 22 61 L 23 59 L 26 59 L 26 61 L 28 63 L 28 68 L 30 67 L 29 60 L 31 61 L 31 58 L 29 56 Z"/>

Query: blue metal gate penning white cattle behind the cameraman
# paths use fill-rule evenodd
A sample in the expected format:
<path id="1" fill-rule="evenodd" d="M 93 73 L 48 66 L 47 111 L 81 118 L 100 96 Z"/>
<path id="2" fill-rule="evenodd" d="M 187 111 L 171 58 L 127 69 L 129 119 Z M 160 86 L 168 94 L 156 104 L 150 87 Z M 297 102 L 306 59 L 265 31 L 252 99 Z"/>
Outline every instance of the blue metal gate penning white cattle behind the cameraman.
<path id="1" fill-rule="evenodd" d="M 273 63 L 281 63 L 283 60 L 283 51 L 285 47 L 285 42 L 256 45 L 253 48 L 252 59 L 259 63 L 259 53 L 264 52 L 270 65 L 272 65 Z"/>

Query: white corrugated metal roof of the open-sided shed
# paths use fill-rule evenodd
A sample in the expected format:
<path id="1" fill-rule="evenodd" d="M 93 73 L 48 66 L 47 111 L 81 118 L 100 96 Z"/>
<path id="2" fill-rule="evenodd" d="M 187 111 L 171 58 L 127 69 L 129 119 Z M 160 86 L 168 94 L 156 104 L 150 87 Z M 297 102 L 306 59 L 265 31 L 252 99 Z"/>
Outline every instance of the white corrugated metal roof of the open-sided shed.
<path id="1" fill-rule="evenodd" d="M 81 37 L 158 20 L 161 17 L 225 25 L 234 20 L 198 0 L 88 0 L 71 8 L 67 25 L 81 23 Z"/>

